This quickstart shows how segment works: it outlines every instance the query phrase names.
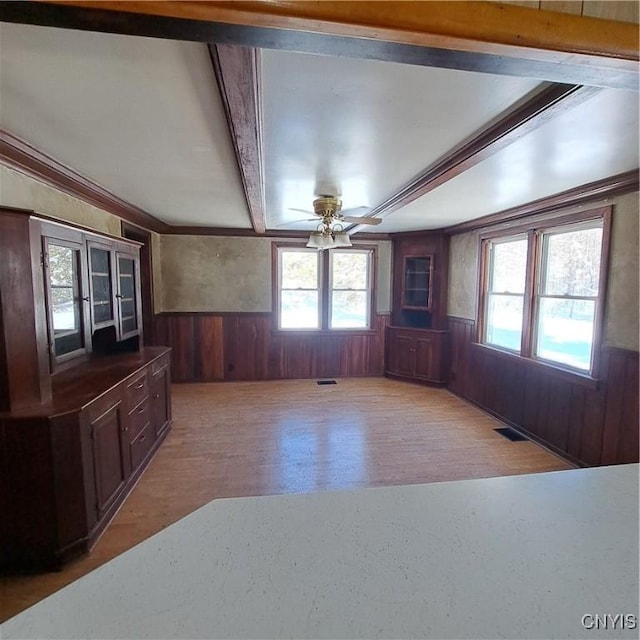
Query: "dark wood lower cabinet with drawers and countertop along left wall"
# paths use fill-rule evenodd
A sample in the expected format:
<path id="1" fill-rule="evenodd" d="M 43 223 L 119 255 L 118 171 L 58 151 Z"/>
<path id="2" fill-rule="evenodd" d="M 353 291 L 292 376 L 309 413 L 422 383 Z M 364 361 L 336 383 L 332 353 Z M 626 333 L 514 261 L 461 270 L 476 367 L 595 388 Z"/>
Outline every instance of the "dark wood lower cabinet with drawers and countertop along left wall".
<path id="1" fill-rule="evenodd" d="M 0 566 L 91 548 L 168 433 L 169 367 L 166 347 L 93 358 L 55 376 L 50 402 L 0 414 Z"/>

